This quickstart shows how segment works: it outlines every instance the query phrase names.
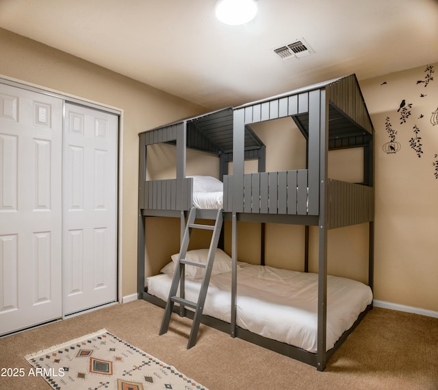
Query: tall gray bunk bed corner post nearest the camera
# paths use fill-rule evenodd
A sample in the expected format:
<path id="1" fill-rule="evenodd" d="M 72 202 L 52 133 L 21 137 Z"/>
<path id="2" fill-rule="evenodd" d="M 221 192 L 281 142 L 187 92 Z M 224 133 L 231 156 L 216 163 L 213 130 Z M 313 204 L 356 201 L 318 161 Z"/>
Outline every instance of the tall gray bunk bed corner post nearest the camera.
<path id="1" fill-rule="evenodd" d="M 320 133 L 320 206 L 318 239 L 318 351 L 317 369 L 326 367 L 326 326 L 327 326 L 327 154 L 329 150 L 329 123 L 325 90 L 309 93 L 309 133 L 318 127 Z M 318 115 L 319 112 L 319 115 Z M 313 120 L 312 120 L 313 119 Z M 312 121 L 312 123 L 311 123 Z M 315 121 L 315 123 L 313 123 Z M 318 123 L 317 123 L 318 122 Z M 310 134 L 309 134 L 310 136 Z"/>

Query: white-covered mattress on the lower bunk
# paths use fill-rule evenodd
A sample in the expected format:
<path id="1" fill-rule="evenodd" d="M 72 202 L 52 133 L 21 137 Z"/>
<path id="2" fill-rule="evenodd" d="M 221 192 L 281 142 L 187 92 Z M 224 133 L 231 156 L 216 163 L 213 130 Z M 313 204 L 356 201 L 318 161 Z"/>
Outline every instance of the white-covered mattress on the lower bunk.
<path id="1" fill-rule="evenodd" d="M 309 352 L 317 351 L 318 274 L 240 263 L 237 270 L 237 326 Z M 172 273 L 147 278 L 148 293 L 168 299 Z M 201 279 L 185 280 L 185 298 L 196 302 Z M 372 302 L 370 287 L 328 276 L 326 349 Z M 231 273 L 210 279 L 203 313 L 231 322 Z"/>

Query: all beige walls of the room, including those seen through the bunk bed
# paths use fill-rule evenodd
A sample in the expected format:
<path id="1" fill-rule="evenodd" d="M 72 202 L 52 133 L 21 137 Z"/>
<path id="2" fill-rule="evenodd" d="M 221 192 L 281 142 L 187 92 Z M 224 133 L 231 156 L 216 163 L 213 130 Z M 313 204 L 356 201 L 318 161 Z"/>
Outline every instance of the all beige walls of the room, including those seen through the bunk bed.
<path id="1" fill-rule="evenodd" d="M 3 29 L 0 29 L 0 47 L 0 74 L 123 110 L 123 295 L 135 293 L 138 132 L 207 112 L 207 109 Z M 438 64 L 433 66 L 436 71 Z M 433 166 L 433 162 L 438 161 L 435 157 L 438 154 L 438 124 L 434 126 L 430 121 L 433 112 L 438 110 L 438 80 L 425 87 L 425 69 L 426 65 L 364 80 L 360 84 L 376 130 L 375 298 L 438 311 L 438 179 Z M 426 96 L 420 97 L 421 94 Z M 402 99 L 413 106 L 407 123 L 400 124 L 397 109 Z M 424 117 L 420 118 L 421 114 Z M 400 150 L 395 154 L 387 154 L 383 149 L 390 141 L 385 127 L 387 117 L 397 131 L 396 142 L 400 144 Z M 274 126 L 275 131 L 270 131 L 266 124 L 257 129 L 268 148 L 272 145 L 267 149 L 268 170 L 295 169 L 303 163 L 303 148 L 298 147 L 302 141 L 291 123 L 279 122 Z M 420 129 L 422 137 L 421 158 L 409 145 L 414 125 Z M 152 162 L 148 175 L 151 178 L 175 177 L 173 153 L 166 146 L 149 153 Z M 345 164 L 346 159 L 353 163 Z M 188 154 L 188 174 L 217 175 L 217 164 L 205 154 Z M 360 181 L 361 151 L 331 152 L 329 176 Z M 228 227 L 227 238 L 229 230 Z M 165 239 L 162 232 L 166 232 Z M 259 224 L 240 223 L 240 260 L 259 260 L 259 232 Z M 301 226 L 266 226 L 268 263 L 302 269 L 303 237 Z M 317 232 L 312 229 L 311 270 L 316 269 L 316 240 Z M 204 242 L 200 237 L 199 245 Z M 178 251 L 178 243 L 178 219 L 148 219 L 146 274 L 157 273 L 159 267 L 170 260 L 170 254 Z M 226 249 L 229 252 L 229 239 Z M 149 261 L 151 258 L 159 259 L 159 263 L 153 265 Z M 367 261 L 366 224 L 329 232 L 329 273 L 365 281 Z"/>

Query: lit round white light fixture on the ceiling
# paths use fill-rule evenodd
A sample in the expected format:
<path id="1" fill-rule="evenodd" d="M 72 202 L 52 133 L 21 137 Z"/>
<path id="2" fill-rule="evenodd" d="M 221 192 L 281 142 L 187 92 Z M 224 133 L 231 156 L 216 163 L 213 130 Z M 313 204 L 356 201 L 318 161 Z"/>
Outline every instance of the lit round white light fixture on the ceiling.
<path id="1" fill-rule="evenodd" d="M 216 3 L 217 18 L 227 25 L 243 25 L 255 18 L 257 0 L 219 0 Z"/>

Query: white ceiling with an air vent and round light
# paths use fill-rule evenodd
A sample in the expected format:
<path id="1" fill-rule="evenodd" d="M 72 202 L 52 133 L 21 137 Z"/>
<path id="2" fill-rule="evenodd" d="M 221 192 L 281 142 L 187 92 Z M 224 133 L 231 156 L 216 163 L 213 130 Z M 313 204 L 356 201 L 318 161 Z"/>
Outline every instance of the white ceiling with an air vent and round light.
<path id="1" fill-rule="evenodd" d="M 438 61 L 437 0 L 258 0 L 228 26 L 216 0 L 0 0 L 0 27 L 206 108 Z M 304 38 L 314 53 L 273 49 Z"/>

